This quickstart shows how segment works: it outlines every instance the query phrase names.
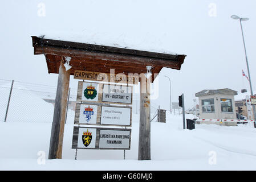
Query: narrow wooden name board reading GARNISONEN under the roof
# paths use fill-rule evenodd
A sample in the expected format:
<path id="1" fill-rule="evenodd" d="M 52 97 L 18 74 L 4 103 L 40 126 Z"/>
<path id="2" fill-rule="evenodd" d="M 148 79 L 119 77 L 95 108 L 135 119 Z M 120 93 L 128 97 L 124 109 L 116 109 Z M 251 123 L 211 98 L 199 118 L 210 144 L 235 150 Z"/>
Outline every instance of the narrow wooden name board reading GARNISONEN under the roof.
<path id="1" fill-rule="evenodd" d="M 139 82 L 139 75 L 133 75 L 132 73 L 127 76 L 124 73 L 110 74 L 76 70 L 74 72 L 74 78 L 80 80 L 118 82 L 123 84 L 127 84 L 127 82 L 128 84 L 138 84 Z"/>

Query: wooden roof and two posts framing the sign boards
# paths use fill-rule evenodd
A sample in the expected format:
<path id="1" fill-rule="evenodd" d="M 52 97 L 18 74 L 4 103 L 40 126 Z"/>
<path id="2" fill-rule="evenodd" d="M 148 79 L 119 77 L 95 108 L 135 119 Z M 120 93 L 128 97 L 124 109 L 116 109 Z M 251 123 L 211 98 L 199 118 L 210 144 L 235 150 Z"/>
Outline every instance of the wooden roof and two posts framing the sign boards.
<path id="1" fill-rule="evenodd" d="M 152 75 L 158 74 L 163 67 L 181 69 L 186 55 L 159 53 L 127 49 L 120 47 L 100 46 L 95 44 L 45 39 L 43 36 L 32 36 L 34 55 L 44 55 L 48 73 L 59 74 L 55 98 L 54 118 L 51 129 L 48 159 L 62 159 L 64 123 L 67 109 L 67 93 L 70 75 L 75 71 L 88 71 L 110 74 L 111 69 L 126 76 L 129 73 L 141 75 L 147 73 L 151 66 Z M 64 64 L 69 64 L 66 70 Z M 150 154 L 150 94 L 144 94 L 149 86 L 140 78 L 140 132 L 138 160 L 151 159 Z M 155 76 L 147 82 L 153 82 Z"/>

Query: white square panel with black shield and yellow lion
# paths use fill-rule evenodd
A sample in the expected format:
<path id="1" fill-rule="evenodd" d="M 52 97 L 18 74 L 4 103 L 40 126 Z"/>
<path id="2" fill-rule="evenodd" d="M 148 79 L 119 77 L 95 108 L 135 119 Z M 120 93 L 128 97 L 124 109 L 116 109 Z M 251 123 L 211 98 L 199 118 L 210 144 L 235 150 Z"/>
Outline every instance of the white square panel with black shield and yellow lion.
<path id="1" fill-rule="evenodd" d="M 96 147 L 96 129 L 80 127 L 78 132 L 78 148 Z"/>

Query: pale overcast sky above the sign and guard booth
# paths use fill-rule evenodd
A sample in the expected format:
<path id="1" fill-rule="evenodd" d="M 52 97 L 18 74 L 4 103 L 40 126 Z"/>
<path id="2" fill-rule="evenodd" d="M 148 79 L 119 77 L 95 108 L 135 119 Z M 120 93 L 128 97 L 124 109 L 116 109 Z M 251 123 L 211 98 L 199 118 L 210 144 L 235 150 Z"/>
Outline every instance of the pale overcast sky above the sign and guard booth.
<path id="1" fill-rule="evenodd" d="M 42 8 L 45 6 L 45 11 Z M 181 70 L 160 72 L 160 96 L 152 102 L 169 109 L 185 94 L 186 107 L 204 89 L 249 91 L 245 53 L 237 14 L 243 22 L 251 81 L 256 90 L 256 1 L 1 1 L 0 78 L 56 85 L 43 55 L 34 55 L 32 35 L 80 35 L 83 42 L 118 42 L 119 46 L 185 54 Z M 45 15 L 45 16 L 44 16 Z M 56 33 L 57 32 L 57 33 Z M 63 38 L 64 39 L 64 38 Z M 71 76 L 71 87 L 78 80 Z"/>

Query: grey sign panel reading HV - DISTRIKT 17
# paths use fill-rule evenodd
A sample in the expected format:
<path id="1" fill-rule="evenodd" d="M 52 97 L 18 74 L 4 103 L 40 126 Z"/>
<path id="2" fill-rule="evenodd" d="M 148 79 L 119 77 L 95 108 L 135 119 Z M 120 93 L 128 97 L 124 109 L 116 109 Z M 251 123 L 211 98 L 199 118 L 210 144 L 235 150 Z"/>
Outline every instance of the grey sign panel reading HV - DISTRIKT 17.
<path id="1" fill-rule="evenodd" d="M 123 85 L 103 85 L 103 102 L 132 103 L 132 87 Z"/>

